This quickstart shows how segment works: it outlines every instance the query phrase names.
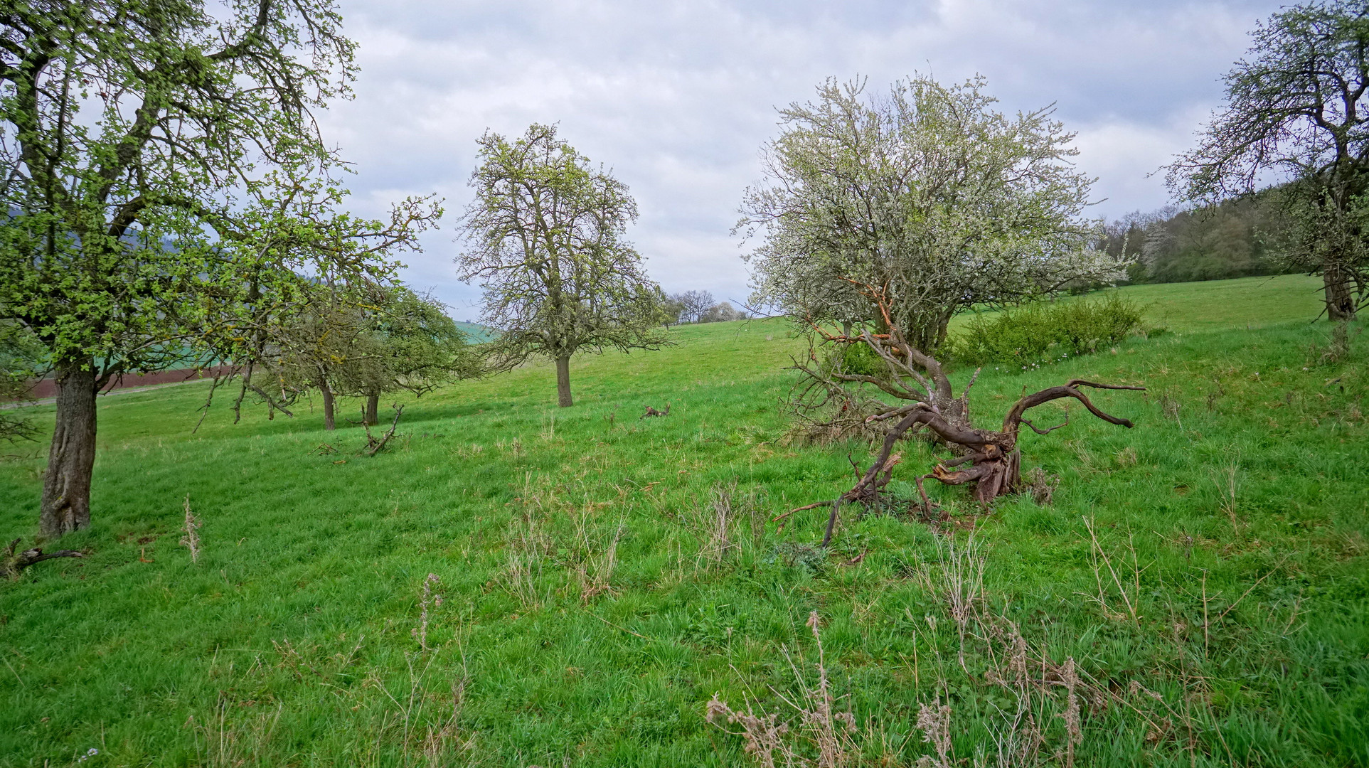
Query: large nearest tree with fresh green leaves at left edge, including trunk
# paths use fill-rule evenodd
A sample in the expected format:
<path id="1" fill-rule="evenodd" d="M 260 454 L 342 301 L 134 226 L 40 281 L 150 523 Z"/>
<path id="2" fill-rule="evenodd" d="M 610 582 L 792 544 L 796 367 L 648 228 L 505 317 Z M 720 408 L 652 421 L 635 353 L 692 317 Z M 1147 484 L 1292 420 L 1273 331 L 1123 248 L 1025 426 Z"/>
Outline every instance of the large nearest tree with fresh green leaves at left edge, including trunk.
<path id="1" fill-rule="evenodd" d="M 311 115 L 355 75 L 331 0 L 7 3 L 0 25 L 0 319 L 55 374 L 55 537 L 90 522 L 103 386 L 249 352 L 261 305 L 287 312 L 309 274 L 385 277 L 437 212 L 335 212 Z"/>

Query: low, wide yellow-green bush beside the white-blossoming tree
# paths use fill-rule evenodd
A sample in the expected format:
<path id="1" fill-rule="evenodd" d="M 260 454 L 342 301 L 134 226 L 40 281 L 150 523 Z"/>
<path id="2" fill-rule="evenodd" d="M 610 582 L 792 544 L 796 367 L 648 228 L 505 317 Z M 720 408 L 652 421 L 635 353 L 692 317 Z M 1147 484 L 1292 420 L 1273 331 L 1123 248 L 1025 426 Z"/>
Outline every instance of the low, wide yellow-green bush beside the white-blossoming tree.
<path id="1" fill-rule="evenodd" d="M 951 356 L 965 363 L 1038 366 L 1097 352 L 1144 333 L 1140 305 L 1116 292 L 1095 300 L 1025 304 L 977 315 L 951 341 Z"/>

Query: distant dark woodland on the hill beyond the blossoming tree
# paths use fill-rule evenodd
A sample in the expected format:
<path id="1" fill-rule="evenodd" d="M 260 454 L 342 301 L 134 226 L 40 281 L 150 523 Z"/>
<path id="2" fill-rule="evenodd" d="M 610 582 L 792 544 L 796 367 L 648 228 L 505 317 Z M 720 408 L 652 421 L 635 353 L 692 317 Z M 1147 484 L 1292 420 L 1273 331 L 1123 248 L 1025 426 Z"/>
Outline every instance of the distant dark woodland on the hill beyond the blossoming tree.
<path id="1" fill-rule="evenodd" d="M 1285 230 L 1269 192 L 1218 205 L 1175 205 L 1134 212 L 1106 223 L 1098 248 L 1136 260 L 1129 282 L 1192 282 L 1298 271 L 1280 255 Z"/>

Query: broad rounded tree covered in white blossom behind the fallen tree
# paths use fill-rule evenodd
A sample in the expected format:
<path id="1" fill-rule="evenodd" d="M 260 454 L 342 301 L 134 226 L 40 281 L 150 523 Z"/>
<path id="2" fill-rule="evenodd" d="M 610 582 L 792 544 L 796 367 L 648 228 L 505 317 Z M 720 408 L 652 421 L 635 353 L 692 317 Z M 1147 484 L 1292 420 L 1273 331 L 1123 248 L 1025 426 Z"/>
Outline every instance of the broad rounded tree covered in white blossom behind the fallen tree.
<path id="1" fill-rule="evenodd" d="M 962 308 L 1121 277 L 1091 248 L 1073 134 L 1049 108 L 1009 118 L 994 101 L 982 78 L 917 75 L 882 97 L 830 79 L 816 101 L 782 110 L 767 181 L 747 189 L 738 223 L 765 237 L 747 256 L 753 301 L 883 329 L 860 289 L 882 286 L 893 320 L 931 353 Z"/>

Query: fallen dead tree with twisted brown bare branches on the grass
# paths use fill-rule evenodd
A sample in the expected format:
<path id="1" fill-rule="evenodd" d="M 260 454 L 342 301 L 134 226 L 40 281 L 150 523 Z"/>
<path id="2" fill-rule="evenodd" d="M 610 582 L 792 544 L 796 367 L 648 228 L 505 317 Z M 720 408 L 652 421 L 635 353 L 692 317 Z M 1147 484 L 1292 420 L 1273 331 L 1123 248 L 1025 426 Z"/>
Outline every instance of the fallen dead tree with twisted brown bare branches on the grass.
<path id="1" fill-rule="evenodd" d="M 1073 398 L 1082 402 L 1090 413 L 1108 423 L 1132 427 L 1129 420 L 1112 416 L 1094 405 L 1082 387 L 1138 392 L 1143 392 L 1146 387 L 1083 379 L 1071 379 L 1060 386 L 1023 394 L 1008 409 L 998 430 L 975 427 L 969 416 L 969 390 L 975 386 L 979 371 L 975 371 L 969 383 L 957 397 L 941 361 L 909 344 L 898 323 L 891 319 L 884 292 L 869 285 L 857 285 L 861 293 L 879 308 L 887 333 L 872 333 L 869 329 L 861 329 L 858 334 L 843 333 L 838 335 L 828 333 L 817 323 L 810 323 L 815 337 L 824 344 L 835 345 L 841 353 L 820 363 L 816 350 L 810 350 L 808 360 L 795 363 L 794 367 L 808 375 L 808 392 L 816 389 L 821 394 L 816 402 L 809 400 L 808 408 L 835 405 L 836 413 L 828 423 L 843 419 L 850 422 L 853 413 L 867 428 L 897 422 L 893 428 L 884 431 L 879 456 L 860 475 L 850 490 L 830 502 L 821 501 L 806 507 L 806 509 L 824 504 L 832 507 L 823 546 L 831 543 L 836 516 L 843 504 L 860 501 L 868 505 L 879 498 L 893 476 L 894 465 L 901 460 L 899 455 L 893 453 L 894 445 L 909 434 L 925 434 L 956 455 L 954 459 L 938 463 L 931 472 L 916 478 L 923 513 L 931 516 L 931 501 L 923 487 L 923 482 L 927 479 L 949 486 L 971 485 L 971 496 L 986 507 L 999 496 L 1023 490 L 1021 450 L 1017 445 L 1021 426 L 1025 424 L 1036 434 L 1050 434 L 1069 423 L 1066 415 L 1064 423 L 1045 428 L 1038 427 L 1027 418 L 1027 412 L 1038 405 Z M 876 374 L 869 370 L 849 370 L 845 364 L 847 357 L 845 348 L 852 345 L 865 345 L 883 363 L 884 371 Z M 893 405 L 878 398 L 861 397 L 858 393 L 861 385 L 872 385 L 902 404 Z M 804 408 L 804 398 L 801 397 L 799 401 L 801 408 Z M 861 416 L 860 413 L 868 415 Z M 849 430 L 838 427 L 832 431 L 841 434 Z M 791 512 L 798 509 L 805 509 L 805 507 Z"/>

